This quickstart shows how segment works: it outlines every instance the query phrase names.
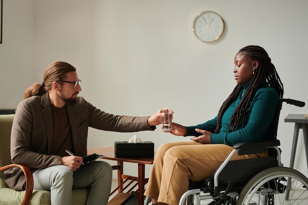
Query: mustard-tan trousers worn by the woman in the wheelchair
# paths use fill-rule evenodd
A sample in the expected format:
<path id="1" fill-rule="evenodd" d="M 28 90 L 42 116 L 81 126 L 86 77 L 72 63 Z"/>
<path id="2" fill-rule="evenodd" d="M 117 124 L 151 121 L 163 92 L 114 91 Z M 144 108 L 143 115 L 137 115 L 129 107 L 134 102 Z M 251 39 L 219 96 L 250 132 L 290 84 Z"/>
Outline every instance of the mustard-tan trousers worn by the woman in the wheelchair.
<path id="1" fill-rule="evenodd" d="M 212 177 L 233 150 L 221 144 L 175 142 L 160 146 L 155 154 L 149 182 L 144 195 L 160 203 L 178 205 L 187 191 L 189 180 Z M 264 154 L 235 154 L 231 160 L 267 156 Z"/>

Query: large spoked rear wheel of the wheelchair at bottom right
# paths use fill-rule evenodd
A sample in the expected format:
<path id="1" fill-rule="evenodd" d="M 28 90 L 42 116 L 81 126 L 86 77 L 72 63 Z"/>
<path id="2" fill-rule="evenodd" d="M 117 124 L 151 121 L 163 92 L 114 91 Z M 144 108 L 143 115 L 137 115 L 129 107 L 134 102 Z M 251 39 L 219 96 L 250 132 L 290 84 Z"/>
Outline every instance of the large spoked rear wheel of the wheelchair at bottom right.
<path id="1" fill-rule="evenodd" d="M 239 195 L 237 205 L 307 205 L 307 188 L 308 179 L 300 172 L 286 167 L 273 167 L 248 181 Z"/>

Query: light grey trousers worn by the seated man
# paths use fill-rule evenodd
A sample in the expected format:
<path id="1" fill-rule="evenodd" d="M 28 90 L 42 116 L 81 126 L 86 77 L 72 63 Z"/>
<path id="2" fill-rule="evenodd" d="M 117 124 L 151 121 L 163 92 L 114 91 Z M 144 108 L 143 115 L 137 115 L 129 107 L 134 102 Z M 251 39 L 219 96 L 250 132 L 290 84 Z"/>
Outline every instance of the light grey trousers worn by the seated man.
<path id="1" fill-rule="evenodd" d="M 112 167 L 102 161 L 82 165 L 73 172 L 64 165 L 33 173 L 34 189 L 51 191 L 51 205 L 72 205 L 72 189 L 91 187 L 87 205 L 107 205 L 112 182 Z"/>

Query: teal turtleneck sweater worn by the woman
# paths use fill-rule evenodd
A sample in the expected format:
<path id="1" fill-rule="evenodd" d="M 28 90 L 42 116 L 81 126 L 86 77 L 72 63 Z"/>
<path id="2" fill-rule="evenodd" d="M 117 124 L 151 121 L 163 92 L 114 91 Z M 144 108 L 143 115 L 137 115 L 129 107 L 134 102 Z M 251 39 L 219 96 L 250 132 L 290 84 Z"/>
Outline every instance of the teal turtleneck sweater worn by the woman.
<path id="1" fill-rule="evenodd" d="M 242 120 L 240 120 L 240 124 L 236 131 L 232 132 L 227 129 L 231 116 L 240 101 L 243 99 L 249 84 L 250 81 L 243 86 L 243 90 L 237 100 L 235 100 L 223 114 L 220 133 L 213 133 L 217 125 L 216 116 L 203 124 L 186 127 L 186 136 L 200 136 L 201 134 L 195 131 L 196 128 L 199 128 L 201 130 L 212 132 L 212 144 L 225 144 L 233 146 L 241 142 L 265 141 L 266 139 L 263 134 L 270 125 L 279 103 L 279 95 L 277 91 L 270 87 L 265 81 L 259 85 L 256 94 L 250 102 L 250 107 L 246 110 L 244 127 L 242 126 Z"/>

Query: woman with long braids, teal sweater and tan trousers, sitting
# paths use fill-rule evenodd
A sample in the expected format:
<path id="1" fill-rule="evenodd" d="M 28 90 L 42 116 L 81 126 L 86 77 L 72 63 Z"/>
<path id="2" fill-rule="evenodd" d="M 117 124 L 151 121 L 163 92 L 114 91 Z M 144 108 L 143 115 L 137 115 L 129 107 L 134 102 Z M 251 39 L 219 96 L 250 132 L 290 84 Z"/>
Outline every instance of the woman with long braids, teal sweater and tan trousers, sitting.
<path id="1" fill-rule="evenodd" d="M 260 46 L 246 46 L 234 58 L 237 86 L 223 102 L 218 115 L 196 126 L 170 123 L 170 132 L 194 136 L 192 142 L 167 143 L 154 158 L 145 196 L 156 205 L 179 204 L 187 191 L 188 179 L 200 181 L 214 175 L 219 165 L 241 142 L 266 141 L 283 85 L 267 52 Z M 234 155 L 231 160 L 268 156 Z"/>

